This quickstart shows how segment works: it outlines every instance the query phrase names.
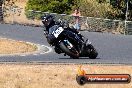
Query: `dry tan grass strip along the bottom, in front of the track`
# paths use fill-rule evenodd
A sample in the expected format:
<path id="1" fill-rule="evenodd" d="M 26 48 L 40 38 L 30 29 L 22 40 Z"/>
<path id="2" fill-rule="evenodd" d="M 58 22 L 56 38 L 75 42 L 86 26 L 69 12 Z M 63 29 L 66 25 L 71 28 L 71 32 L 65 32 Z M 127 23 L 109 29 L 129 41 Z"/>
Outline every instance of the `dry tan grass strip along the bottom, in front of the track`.
<path id="1" fill-rule="evenodd" d="M 0 88 L 132 88 L 132 84 L 77 84 L 79 65 L 0 65 Z M 132 66 L 84 65 L 88 74 L 130 74 Z M 108 69 L 109 68 L 109 69 Z"/>

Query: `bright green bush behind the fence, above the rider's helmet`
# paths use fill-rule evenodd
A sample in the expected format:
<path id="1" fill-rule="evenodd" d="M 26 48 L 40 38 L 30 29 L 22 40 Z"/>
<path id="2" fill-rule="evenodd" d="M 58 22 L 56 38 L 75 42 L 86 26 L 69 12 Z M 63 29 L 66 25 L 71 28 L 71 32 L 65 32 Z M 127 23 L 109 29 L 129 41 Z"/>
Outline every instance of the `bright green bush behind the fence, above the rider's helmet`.
<path id="1" fill-rule="evenodd" d="M 78 0 L 29 0 L 26 10 L 40 10 L 43 12 L 66 13 L 70 14 L 72 7 Z"/>

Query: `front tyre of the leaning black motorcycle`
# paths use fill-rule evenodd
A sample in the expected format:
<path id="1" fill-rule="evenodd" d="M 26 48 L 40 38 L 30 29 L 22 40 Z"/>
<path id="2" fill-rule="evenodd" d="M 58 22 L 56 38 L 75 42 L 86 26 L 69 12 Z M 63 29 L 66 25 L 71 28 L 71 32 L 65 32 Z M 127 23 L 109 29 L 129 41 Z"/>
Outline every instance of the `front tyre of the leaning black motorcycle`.
<path id="1" fill-rule="evenodd" d="M 65 52 L 67 55 L 69 55 L 70 58 L 73 58 L 73 59 L 79 58 L 79 53 L 74 47 L 72 49 L 68 49 L 68 47 L 66 47 L 66 45 L 63 42 L 61 42 L 60 48 L 63 50 L 63 52 Z"/>

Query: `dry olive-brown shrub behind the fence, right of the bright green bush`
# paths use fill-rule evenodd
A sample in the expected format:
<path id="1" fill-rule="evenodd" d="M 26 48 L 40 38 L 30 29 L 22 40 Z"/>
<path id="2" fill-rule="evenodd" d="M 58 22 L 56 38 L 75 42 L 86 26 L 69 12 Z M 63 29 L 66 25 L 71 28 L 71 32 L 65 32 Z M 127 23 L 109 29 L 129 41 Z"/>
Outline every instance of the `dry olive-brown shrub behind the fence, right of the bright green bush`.
<path id="1" fill-rule="evenodd" d="M 112 18 L 117 14 L 110 3 L 98 3 L 97 0 L 82 0 L 80 10 L 83 16 L 88 17 Z"/>

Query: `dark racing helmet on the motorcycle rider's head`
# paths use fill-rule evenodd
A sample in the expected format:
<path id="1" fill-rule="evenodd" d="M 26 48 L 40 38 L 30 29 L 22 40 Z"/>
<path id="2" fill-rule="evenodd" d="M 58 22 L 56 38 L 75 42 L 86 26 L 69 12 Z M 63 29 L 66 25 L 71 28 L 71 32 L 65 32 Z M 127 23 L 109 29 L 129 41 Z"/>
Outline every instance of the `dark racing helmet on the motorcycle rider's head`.
<path id="1" fill-rule="evenodd" d="M 50 14 L 48 14 L 46 16 L 42 16 L 42 23 L 44 24 L 45 27 L 52 24 L 53 20 L 54 20 L 54 17 Z"/>

